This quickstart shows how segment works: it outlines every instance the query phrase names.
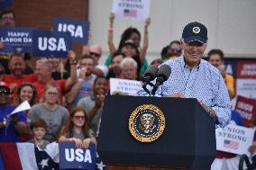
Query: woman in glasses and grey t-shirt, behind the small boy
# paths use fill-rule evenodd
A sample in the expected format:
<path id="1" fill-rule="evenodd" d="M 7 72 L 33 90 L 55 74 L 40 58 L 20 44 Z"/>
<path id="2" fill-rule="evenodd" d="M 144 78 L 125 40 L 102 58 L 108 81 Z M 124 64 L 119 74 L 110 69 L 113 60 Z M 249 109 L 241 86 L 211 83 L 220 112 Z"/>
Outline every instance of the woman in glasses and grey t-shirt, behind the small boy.
<path id="1" fill-rule="evenodd" d="M 59 93 L 59 85 L 48 83 L 44 88 L 43 103 L 33 105 L 29 112 L 30 121 L 39 118 L 46 122 L 44 139 L 50 142 L 57 140 L 61 127 L 69 118 L 68 110 L 59 105 Z"/>

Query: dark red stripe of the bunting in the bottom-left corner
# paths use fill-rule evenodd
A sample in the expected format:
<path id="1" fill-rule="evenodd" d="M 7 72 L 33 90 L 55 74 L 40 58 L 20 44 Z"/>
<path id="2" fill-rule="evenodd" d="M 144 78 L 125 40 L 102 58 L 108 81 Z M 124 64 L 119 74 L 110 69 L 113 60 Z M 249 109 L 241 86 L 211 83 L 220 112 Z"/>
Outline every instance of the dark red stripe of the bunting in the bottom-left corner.
<path id="1" fill-rule="evenodd" d="M 6 170 L 23 170 L 15 143 L 1 143 L 0 151 L 4 159 Z"/>

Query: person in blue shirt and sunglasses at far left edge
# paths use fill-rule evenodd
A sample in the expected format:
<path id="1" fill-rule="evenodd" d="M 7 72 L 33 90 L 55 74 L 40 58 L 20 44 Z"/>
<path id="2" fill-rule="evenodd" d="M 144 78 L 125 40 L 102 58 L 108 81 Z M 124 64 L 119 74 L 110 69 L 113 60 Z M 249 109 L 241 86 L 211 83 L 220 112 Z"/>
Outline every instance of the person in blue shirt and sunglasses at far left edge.
<path id="1" fill-rule="evenodd" d="M 10 88 L 0 85 L 0 143 L 21 142 L 20 136 L 22 135 L 31 138 L 31 130 L 26 124 L 24 112 L 7 116 L 16 108 L 16 106 L 9 104 L 9 94 Z"/>

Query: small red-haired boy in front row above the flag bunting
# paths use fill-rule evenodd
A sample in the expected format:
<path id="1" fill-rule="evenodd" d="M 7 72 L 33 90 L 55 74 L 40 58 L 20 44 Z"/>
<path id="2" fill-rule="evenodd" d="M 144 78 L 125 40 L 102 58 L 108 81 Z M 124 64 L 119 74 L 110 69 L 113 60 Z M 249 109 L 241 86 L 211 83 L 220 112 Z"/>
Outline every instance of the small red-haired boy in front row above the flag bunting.
<path id="1" fill-rule="evenodd" d="M 45 149 L 50 142 L 44 138 L 45 132 L 46 132 L 46 122 L 41 119 L 35 119 L 31 122 L 31 130 L 33 134 L 33 139 L 31 139 L 29 142 L 34 143 L 36 146 L 38 146 L 41 149 Z"/>

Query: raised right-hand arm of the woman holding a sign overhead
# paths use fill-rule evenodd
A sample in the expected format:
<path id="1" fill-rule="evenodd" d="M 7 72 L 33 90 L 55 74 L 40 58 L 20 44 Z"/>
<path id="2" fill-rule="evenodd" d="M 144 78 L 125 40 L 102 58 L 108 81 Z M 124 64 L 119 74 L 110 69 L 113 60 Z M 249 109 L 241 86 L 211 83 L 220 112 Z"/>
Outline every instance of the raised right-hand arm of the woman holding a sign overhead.
<path id="1" fill-rule="evenodd" d="M 147 49 L 149 47 L 149 31 L 148 31 L 148 27 L 151 24 L 151 18 L 147 18 L 144 24 L 144 37 L 143 37 L 143 45 L 142 45 L 142 49 L 140 51 L 140 59 L 141 62 L 144 62 L 144 59 L 146 57 L 146 53 L 147 53 Z"/>

